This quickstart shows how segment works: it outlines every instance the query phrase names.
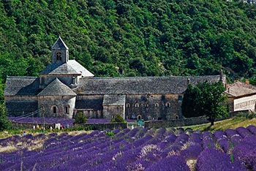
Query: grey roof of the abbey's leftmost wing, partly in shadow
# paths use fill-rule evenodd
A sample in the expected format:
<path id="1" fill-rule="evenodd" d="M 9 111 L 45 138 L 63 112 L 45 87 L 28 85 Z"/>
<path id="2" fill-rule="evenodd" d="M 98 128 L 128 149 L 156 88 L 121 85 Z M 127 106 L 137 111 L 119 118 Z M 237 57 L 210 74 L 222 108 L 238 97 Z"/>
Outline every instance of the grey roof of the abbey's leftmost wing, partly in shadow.
<path id="1" fill-rule="evenodd" d="M 7 77 L 4 96 L 35 96 L 38 93 L 38 77 Z"/>

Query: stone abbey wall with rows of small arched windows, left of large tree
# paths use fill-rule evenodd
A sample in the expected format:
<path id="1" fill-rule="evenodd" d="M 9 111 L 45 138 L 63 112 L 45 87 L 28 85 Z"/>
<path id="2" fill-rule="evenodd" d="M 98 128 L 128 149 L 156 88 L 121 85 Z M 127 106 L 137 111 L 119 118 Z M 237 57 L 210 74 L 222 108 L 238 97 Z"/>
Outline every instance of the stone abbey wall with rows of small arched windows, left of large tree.
<path id="1" fill-rule="evenodd" d="M 130 94 L 126 99 L 125 116 L 145 121 L 181 118 L 181 99 L 180 94 Z"/>

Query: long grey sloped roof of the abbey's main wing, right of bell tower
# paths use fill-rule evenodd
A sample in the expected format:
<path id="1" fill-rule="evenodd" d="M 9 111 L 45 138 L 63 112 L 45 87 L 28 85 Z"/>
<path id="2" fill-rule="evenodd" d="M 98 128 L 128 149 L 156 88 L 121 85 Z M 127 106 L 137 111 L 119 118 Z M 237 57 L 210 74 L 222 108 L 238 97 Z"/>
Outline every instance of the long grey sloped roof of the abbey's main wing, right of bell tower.
<path id="1" fill-rule="evenodd" d="M 219 81 L 219 75 L 172 77 L 93 77 L 81 78 L 77 94 L 182 94 L 187 80 L 192 85 Z M 225 77 L 223 77 L 225 82 Z"/>

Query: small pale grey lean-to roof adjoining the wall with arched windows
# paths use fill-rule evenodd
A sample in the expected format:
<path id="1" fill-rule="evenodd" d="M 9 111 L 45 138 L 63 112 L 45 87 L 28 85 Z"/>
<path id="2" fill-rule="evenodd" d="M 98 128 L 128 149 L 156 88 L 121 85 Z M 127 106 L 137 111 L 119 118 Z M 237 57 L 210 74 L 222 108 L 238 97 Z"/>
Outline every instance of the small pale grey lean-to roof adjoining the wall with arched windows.
<path id="1" fill-rule="evenodd" d="M 119 94 L 107 94 L 104 95 L 103 105 L 105 106 L 117 106 L 125 104 L 125 96 Z"/>

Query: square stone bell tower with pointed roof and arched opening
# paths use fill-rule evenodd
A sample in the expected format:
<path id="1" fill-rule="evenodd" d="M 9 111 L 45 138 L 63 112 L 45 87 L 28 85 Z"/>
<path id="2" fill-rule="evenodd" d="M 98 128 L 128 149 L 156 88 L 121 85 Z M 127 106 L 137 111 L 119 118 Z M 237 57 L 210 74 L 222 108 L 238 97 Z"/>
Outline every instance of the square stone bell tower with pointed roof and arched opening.
<path id="1" fill-rule="evenodd" d="M 52 64 L 64 64 L 69 61 L 69 47 L 64 43 L 64 41 L 59 37 L 57 41 L 51 47 Z"/>

